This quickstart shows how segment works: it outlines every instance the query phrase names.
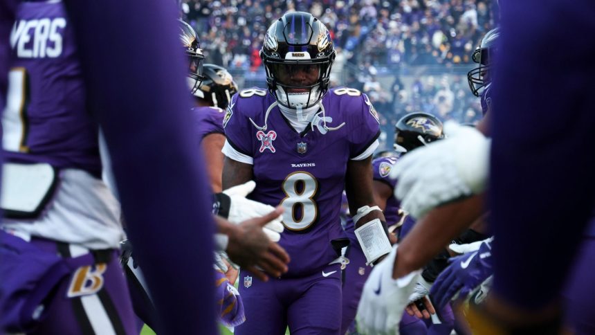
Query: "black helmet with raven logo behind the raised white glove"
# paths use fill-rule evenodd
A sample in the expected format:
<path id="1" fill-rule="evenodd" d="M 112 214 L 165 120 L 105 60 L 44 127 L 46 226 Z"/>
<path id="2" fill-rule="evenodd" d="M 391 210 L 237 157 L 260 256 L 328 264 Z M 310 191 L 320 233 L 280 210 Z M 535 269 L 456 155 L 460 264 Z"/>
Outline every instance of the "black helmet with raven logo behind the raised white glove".
<path id="1" fill-rule="evenodd" d="M 410 113 L 394 126 L 394 147 L 404 147 L 410 152 L 422 145 L 444 138 L 442 122 L 432 114 Z"/>

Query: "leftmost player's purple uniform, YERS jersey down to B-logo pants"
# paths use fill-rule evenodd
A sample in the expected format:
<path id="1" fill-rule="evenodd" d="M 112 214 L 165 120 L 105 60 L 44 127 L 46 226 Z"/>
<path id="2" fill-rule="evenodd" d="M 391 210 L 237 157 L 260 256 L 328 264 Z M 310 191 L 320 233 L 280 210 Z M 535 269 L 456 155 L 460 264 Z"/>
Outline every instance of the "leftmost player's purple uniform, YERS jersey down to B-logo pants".
<path id="1" fill-rule="evenodd" d="M 98 126 L 62 3 L 22 2 L 10 41 L 6 159 L 48 163 L 58 181 L 39 215 L 3 219 L 0 329 L 134 334 L 118 262 L 119 205 L 99 179 Z"/>

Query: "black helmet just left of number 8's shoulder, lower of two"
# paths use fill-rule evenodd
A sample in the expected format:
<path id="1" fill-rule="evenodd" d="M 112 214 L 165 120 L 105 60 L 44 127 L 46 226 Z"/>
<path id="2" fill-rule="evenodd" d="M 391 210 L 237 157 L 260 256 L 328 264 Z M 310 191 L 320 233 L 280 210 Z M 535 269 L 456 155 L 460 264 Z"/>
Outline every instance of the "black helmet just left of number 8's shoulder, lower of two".
<path id="1" fill-rule="evenodd" d="M 219 65 L 205 64 L 203 76 L 205 79 L 194 96 L 207 100 L 211 106 L 226 109 L 231 97 L 237 93 L 237 84 L 231 74 Z"/>

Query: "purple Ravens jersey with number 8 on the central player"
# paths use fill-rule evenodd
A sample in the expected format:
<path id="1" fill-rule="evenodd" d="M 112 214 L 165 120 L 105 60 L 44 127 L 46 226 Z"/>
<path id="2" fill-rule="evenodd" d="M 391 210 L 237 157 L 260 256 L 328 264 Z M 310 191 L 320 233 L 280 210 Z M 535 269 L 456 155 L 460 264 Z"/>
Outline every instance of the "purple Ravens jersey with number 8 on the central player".
<path id="1" fill-rule="evenodd" d="M 247 89 L 232 98 L 223 127 L 223 154 L 253 165 L 250 199 L 281 204 L 280 244 L 291 256 L 286 276 L 309 275 L 332 262 L 330 241 L 342 236 L 339 212 L 349 160 L 366 159 L 378 147 L 378 114 L 356 89 L 331 89 L 298 133 L 275 98 Z"/>

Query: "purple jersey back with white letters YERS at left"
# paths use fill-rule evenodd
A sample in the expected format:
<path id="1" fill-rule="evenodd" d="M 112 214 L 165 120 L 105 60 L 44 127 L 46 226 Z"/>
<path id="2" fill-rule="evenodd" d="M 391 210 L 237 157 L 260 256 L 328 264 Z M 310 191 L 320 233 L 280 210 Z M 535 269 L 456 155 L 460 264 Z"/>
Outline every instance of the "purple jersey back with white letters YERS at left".
<path id="1" fill-rule="evenodd" d="M 21 3 L 10 42 L 2 118 L 8 161 L 44 162 L 99 176 L 98 126 L 86 109 L 73 27 L 62 3 Z"/>

